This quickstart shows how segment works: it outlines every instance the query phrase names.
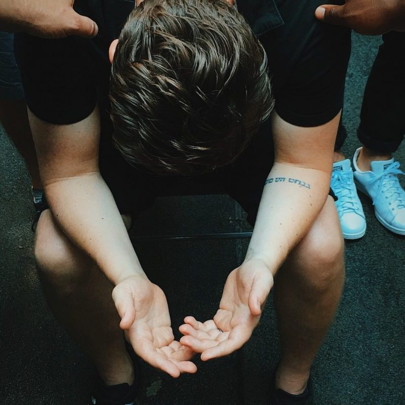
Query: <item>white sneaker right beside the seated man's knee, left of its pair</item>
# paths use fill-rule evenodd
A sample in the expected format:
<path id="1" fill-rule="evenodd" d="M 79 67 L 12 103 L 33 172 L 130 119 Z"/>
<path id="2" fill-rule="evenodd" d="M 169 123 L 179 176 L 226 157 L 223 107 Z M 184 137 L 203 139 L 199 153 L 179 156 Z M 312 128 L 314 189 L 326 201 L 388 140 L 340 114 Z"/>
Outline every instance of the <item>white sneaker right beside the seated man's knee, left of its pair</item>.
<path id="1" fill-rule="evenodd" d="M 331 188 L 338 200 L 335 202 L 345 239 L 358 239 L 366 233 L 366 217 L 353 181 L 350 160 L 333 164 Z"/>

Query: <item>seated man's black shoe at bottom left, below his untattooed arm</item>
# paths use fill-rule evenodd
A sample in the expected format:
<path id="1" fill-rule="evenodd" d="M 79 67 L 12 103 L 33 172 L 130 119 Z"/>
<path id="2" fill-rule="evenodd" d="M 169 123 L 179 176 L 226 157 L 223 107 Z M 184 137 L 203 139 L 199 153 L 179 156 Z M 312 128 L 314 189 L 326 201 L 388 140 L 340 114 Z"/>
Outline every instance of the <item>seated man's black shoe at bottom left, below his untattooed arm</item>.
<path id="1" fill-rule="evenodd" d="M 137 357 L 132 347 L 126 343 L 127 351 L 134 365 L 134 383 L 117 385 L 105 385 L 100 377 L 97 378 L 89 405 L 134 405 L 139 386 L 139 369 Z"/>

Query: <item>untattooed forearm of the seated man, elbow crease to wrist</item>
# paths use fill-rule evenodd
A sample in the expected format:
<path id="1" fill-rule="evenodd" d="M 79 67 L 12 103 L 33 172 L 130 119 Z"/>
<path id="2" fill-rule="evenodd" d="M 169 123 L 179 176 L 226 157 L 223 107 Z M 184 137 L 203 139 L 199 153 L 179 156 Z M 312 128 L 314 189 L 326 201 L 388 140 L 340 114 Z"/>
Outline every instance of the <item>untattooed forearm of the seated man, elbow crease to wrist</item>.
<path id="1" fill-rule="evenodd" d="M 66 235 L 117 284 L 144 272 L 113 196 L 99 173 L 45 184 L 52 212 Z"/>

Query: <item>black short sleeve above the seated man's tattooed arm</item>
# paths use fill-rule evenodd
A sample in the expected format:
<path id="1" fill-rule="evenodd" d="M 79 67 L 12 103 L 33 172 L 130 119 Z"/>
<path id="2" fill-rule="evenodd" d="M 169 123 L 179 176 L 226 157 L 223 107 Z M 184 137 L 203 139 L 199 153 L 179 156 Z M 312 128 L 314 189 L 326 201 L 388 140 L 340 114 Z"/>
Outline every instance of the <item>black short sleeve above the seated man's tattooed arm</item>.
<path id="1" fill-rule="evenodd" d="M 260 36 L 272 76 L 275 110 L 299 127 L 326 124 L 343 107 L 350 30 L 315 19 L 321 0 L 275 3 L 285 24 Z"/>

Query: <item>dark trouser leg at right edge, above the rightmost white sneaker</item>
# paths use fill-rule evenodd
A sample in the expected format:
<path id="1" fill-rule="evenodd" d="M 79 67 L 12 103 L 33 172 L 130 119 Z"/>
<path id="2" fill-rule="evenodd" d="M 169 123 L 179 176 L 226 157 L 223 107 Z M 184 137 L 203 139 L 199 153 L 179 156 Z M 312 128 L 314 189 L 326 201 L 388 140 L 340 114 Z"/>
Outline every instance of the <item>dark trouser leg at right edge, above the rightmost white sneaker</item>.
<path id="1" fill-rule="evenodd" d="M 405 32 L 389 32 L 383 41 L 367 82 L 358 139 L 391 153 L 405 134 Z"/>

